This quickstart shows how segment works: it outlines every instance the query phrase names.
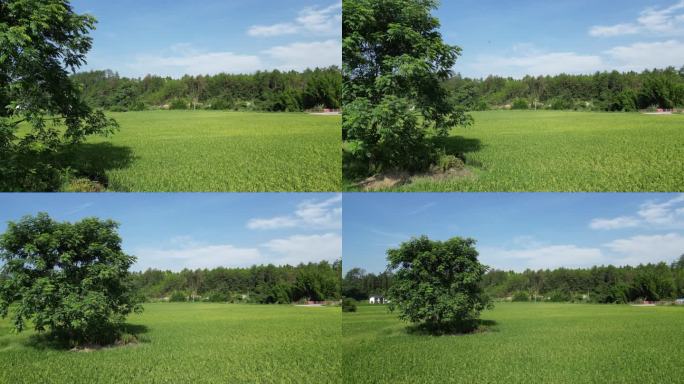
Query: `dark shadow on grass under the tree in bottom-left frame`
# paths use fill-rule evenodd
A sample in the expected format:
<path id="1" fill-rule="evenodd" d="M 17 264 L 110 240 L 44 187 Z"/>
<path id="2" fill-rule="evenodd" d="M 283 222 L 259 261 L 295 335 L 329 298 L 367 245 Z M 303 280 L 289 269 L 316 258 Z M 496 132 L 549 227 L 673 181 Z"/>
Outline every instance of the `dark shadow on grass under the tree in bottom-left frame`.
<path id="1" fill-rule="evenodd" d="M 95 351 L 105 348 L 123 347 L 141 343 L 149 343 L 150 340 L 145 334 L 149 328 L 140 324 L 124 324 L 118 332 L 105 335 L 100 343 L 81 344 L 74 346 L 73 343 L 65 340 L 54 332 L 41 332 L 31 335 L 25 345 L 37 350 L 58 350 L 58 351 Z"/>

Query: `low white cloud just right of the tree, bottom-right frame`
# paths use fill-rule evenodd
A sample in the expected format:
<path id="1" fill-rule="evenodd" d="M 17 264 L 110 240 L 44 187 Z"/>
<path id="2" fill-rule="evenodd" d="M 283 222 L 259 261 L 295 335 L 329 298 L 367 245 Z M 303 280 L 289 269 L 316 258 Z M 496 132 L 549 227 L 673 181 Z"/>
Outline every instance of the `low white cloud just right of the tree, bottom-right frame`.
<path id="1" fill-rule="evenodd" d="M 606 257 L 599 248 L 576 245 L 548 245 L 535 248 L 505 249 L 482 247 L 485 264 L 504 270 L 583 268 L 603 264 Z"/>

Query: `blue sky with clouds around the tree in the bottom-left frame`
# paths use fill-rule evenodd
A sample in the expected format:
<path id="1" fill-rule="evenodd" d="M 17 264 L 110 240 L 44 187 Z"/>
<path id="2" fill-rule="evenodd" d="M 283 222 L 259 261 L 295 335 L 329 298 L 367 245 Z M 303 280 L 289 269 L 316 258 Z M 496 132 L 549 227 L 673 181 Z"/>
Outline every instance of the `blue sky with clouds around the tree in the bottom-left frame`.
<path id="1" fill-rule="evenodd" d="M 339 194 L 0 194 L 0 231 L 24 215 L 120 223 L 135 270 L 298 264 L 341 257 Z"/>

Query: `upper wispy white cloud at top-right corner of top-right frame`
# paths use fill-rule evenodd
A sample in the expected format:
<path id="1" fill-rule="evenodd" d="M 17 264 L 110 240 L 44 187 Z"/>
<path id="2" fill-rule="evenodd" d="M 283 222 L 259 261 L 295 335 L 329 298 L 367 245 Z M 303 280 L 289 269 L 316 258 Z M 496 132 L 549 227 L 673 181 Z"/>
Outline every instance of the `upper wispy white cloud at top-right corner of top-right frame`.
<path id="1" fill-rule="evenodd" d="M 594 26 L 589 34 L 595 37 L 613 37 L 634 34 L 679 35 L 684 31 L 684 0 L 662 9 L 646 8 L 630 23 L 611 26 Z"/>

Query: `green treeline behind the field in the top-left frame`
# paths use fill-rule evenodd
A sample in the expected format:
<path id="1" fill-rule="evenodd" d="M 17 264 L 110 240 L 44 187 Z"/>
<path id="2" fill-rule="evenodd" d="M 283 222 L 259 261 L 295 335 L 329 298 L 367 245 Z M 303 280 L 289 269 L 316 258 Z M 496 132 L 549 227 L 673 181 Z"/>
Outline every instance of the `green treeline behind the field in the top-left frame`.
<path id="1" fill-rule="evenodd" d="M 180 79 L 154 75 L 127 78 L 106 70 L 77 73 L 72 78 L 91 106 L 118 112 L 162 108 L 271 112 L 339 109 L 342 92 L 342 74 L 337 67 Z"/>

